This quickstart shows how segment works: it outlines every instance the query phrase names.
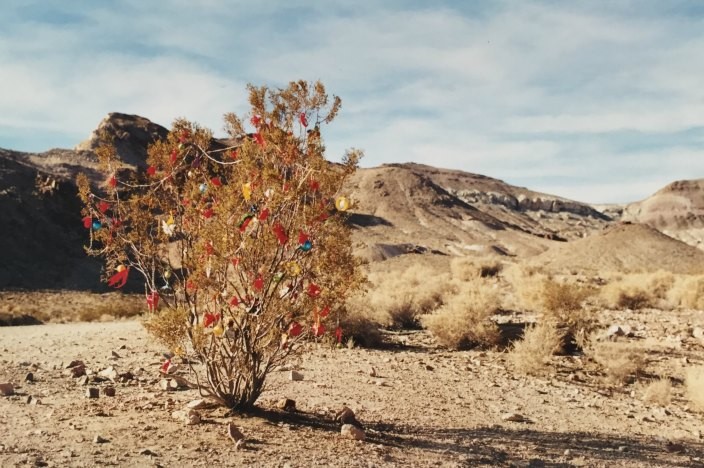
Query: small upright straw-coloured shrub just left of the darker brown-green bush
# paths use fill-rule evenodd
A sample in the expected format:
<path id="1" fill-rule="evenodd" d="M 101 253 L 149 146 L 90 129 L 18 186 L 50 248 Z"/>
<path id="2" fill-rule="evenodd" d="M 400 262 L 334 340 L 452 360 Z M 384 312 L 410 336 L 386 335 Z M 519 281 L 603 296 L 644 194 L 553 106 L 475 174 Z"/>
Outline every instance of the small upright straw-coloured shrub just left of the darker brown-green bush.
<path id="1" fill-rule="evenodd" d="M 523 338 L 511 347 L 509 360 L 521 373 L 537 375 L 545 370 L 554 354 L 562 350 L 562 333 L 554 323 L 526 327 Z"/>

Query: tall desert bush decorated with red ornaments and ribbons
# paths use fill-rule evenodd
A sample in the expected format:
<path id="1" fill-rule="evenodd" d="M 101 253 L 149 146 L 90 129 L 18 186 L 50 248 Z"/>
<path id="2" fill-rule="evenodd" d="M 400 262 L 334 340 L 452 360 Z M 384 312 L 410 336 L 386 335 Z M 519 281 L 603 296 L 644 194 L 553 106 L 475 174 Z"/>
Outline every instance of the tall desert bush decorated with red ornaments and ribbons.
<path id="1" fill-rule="evenodd" d="M 78 180 L 87 250 L 116 272 L 108 284 L 140 274 L 147 329 L 189 346 L 201 394 L 238 410 L 303 340 L 342 340 L 340 310 L 361 282 L 340 192 L 361 153 L 332 164 L 321 137 L 339 98 L 320 82 L 248 91 L 249 114 L 225 116 L 226 142 L 179 119 L 146 167 L 125 170 L 105 144 L 104 186 Z"/>

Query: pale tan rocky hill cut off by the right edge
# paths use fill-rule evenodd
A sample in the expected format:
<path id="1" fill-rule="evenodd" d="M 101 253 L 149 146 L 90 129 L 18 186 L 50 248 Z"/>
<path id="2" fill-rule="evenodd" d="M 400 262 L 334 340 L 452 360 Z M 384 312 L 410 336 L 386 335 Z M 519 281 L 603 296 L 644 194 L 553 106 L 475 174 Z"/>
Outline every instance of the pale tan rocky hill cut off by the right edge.
<path id="1" fill-rule="evenodd" d="M 622 217 L 704 250 L 704 179 L 672 182 L 651 197 L 627 205 Z"/>

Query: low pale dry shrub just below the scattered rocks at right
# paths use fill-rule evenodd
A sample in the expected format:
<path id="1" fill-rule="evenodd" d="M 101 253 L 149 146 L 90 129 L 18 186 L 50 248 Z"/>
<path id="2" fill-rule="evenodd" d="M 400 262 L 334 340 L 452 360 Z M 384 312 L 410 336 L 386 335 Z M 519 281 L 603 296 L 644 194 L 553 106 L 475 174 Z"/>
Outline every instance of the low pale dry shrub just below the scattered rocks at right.
<path id="1" fill-rule="evenodd" d="M 614 384 L 626 384 L 636 379 L 646 364 L 643 350 L 629 343 L 593 342 L 587 354 Z"/>

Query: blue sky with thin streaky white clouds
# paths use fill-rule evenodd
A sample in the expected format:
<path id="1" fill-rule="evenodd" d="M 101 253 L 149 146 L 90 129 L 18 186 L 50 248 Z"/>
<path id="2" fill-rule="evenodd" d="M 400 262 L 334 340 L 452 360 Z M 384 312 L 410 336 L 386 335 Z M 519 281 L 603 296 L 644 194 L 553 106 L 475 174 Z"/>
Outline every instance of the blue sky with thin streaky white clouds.
<path id="1" fill-rule="evenodd" d="M 322 80 L 327 156 L 417 162 L 589 203 L 704 177 L 698 0 L 4 0 L 0 147 L 109 112 L 224 136 L 246 84 Z"/>

